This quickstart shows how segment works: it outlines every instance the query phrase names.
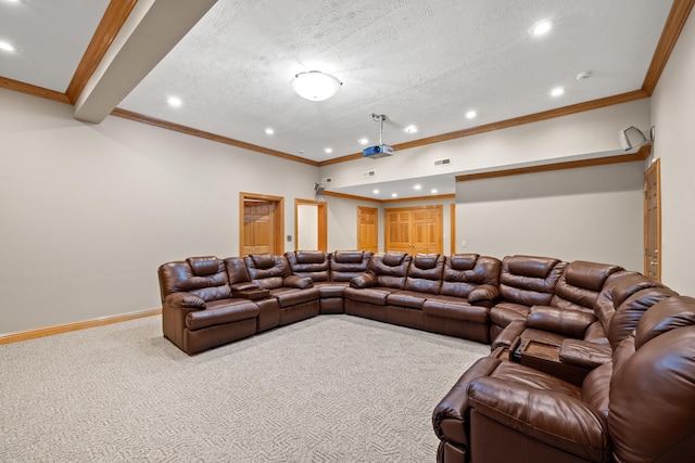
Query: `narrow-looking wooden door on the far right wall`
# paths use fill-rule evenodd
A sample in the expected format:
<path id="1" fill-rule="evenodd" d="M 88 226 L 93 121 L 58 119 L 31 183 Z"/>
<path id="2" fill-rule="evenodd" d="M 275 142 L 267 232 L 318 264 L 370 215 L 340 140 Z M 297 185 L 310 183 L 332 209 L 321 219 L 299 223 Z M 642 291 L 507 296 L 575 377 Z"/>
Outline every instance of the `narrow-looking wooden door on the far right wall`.
<path id="1" fill-rule="evenodd" d="M 644 172 L 644 274 L 661 281 L 661 185 L 659 159 Z"/>

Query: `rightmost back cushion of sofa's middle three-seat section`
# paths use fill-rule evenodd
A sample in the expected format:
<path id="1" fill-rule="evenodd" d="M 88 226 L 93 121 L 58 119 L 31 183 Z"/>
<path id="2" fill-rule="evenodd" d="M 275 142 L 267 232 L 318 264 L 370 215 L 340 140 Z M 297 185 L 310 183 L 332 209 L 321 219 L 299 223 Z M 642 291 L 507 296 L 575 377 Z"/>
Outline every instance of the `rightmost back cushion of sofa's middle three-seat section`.
<path id="1" fill-rule="evenodd" d="M 441 294 L 467 298 L 481 285 L 500 286 L 502 262 L 478 254 L 452 254 L 444 261 Z"/>

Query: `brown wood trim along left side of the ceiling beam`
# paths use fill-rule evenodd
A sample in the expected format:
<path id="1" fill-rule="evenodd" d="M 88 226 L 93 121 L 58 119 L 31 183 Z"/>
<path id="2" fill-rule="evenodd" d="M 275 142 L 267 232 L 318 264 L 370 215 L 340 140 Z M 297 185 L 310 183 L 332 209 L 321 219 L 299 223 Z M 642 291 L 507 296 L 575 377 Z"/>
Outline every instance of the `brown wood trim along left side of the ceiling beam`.
<path id="1" fill-rule="evenodd" d="M 97 70 L 97 66 L 103 60 L 113 39 L 116 38 L 137 2 L 138 0 L 111 0 L 109 7 L 106 7 L 106 11 L 99 26 L 97 26 L 97 31 L 92 36 L 87 51 L 83 55 L 65 91 L 65 95 L 67 95 L 72 104 L 75 104 L 83 90 L 85 90 L 85 86 L 87 86 L 92 74 Z"/>

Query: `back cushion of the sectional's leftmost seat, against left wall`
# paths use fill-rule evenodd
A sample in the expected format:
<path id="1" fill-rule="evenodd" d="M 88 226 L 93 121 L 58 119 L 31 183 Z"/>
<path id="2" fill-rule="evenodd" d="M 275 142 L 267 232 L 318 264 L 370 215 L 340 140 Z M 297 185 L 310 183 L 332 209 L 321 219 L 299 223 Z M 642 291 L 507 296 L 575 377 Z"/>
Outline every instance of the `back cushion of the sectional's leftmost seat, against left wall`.
<path id="1" fill-rule="evenodd" d="M 192 293 L 206 303 L 231 297 L 225 262 L 214 256 L 164 263 L 157 274 L 162 301 L 172 293 Z"/>

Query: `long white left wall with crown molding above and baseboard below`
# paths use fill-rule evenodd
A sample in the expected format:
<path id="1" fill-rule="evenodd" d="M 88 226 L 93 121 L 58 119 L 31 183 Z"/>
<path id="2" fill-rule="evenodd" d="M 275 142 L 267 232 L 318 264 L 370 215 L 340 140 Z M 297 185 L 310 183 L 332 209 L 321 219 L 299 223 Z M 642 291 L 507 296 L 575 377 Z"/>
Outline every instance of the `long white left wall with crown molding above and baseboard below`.
<path id="1" fill-rule="evenodd" d="M 72 113 L 0 89 L 0 333 L 161 307 L 161 263 L 239 254 L 240 192 L 285 196 L 286 234 L 314 196 L 316 167 Z"/>

